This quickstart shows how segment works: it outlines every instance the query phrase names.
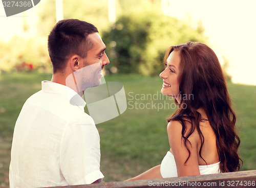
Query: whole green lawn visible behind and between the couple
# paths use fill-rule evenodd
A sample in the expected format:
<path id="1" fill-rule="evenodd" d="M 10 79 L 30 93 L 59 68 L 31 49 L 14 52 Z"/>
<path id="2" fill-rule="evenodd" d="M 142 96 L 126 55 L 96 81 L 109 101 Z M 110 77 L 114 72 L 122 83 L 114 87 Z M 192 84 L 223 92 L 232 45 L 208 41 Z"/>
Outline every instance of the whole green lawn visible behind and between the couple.
<path id="1" fill-rule="evenodd" d="M 51 80 L 51 75 L 0 75 L 0 187 L 9 185 L 11 140 L 17 116 L 27 98 L 40 90 L 42 80 Z M 130 102 L 123 114 L 96 125 L 101 138 L 101 171 L 105 175 L 104 181 L 123 181 L 159 165 L 169 150 L 166 117 L 174 109 L 165 106 L 165 109 L 157 110 L 155 107 L 164 104 L 164 101 L 171 104 L 173 100 L 166 100 L 161 95 L 162 81 L 159 77 L 118 75 L 105 77 L 105 80 L 121 82 L 127 103 Z M 240 155 L 244 161 L 242 170 L 256 169 L 256 86 L 228 83 L 228 89 L 238 115 Z M 147 94 L 155 97 L 153 107 L 150 99 L 143 98 Z M 138 100 L 132 100 L 135 95 Z M 135 102 L 138 109 L 135 109 Z M 147 108 L 153 109 L 142 109 L 147 103 L 150 103 Z"/>

